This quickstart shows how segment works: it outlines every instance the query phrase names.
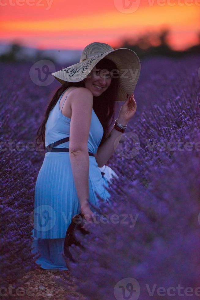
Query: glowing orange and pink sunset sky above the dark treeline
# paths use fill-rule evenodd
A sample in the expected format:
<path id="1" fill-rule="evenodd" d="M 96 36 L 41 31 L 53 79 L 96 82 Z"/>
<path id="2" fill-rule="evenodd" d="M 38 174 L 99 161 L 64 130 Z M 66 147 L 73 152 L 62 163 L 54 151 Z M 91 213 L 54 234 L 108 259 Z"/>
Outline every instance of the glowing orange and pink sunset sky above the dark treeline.
<path id="1" fill-rule="evenodd" d="M 200 0 L 0 0 L 0 6 L 0 43 L 40 49 L 117 47 L 162 28 L 170 29 L 173 48 L 184 49 L 200 32 Z"/>

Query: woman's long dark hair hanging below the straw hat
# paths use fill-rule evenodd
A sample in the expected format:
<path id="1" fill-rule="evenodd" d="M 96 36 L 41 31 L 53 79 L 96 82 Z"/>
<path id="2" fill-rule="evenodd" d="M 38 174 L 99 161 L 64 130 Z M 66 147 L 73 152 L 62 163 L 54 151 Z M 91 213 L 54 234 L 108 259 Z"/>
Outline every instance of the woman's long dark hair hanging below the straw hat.
<path id="1" fill-rule="evenodd" d="M 96 68 L 98 69 L 107 69 L 109 72 L 113 69 L 117 69 L 116 64 L 108 58 L 103 58 L 96 64 Z M 115 114 L 115 100 L 117 99 L 117 93 L 119 88 L 119 77 L 112 77 L 111 83 L 107 90 L 103 92 L 98 97 L 93 97 L 93 109 L 95 114 L 97 115 L 99 121 L 103 127 L 103 136 L 99 146 L 106 140 L 109 135 L 109 126 L 112 124 Z M 40 124 L 39 129 L 37 131 L 37 137 L 35 139 L 36 144 L 40 147 L 40 149 L 45 149 L 45 125 L 46 121 L 49 117 L 50 111 L 53 109 L 55 104 L 57 103 L 61 94 L 71 86 L 75 87 L 85 87 L 84 81 L 80 82 L 69 82 L 66 81 L 60 88 L 57 89 L 53 98 L 51 99 L 45 115 L 43 122 Z"/>

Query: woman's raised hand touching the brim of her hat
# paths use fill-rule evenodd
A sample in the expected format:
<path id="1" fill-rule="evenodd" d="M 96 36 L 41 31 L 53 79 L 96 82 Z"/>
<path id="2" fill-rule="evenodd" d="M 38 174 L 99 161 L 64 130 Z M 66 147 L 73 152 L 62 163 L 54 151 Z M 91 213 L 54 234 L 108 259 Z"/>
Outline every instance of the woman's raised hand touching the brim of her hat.
<path id="1" fill-rule="evenodd" d="M 136 104 L 135 99 L 134 99 L 134 94 L 132 93 L 131 96 L 129 96 L 127 94 L 127 100 L 121 106 L 117 120 L 119 122 L 120 122 L 120 120 L 122 120 L 122 122 L 124 121 L 124 123 L 128 123 L 128 121 L 135 114 L 136 108 L 137 108 L 137 104 Z M 122 125 L 126 125 L 126 124 L 122 124 Z"/>

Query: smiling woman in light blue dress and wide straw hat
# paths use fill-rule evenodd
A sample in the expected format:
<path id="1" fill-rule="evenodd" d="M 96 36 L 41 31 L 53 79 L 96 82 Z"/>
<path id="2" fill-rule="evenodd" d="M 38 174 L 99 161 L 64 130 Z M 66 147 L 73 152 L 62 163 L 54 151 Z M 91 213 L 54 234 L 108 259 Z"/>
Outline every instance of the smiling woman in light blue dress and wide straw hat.
<path id="1" fill-rule="evenodd" d="M 131 70 L 128 77 L 124 69 Z M 62 253 L 72 217 L 81 212 L 89 221 L 94 213 L 90 203 L 98 207 L 98 196 L 109 202 L 109 180 L 100 169 L 136 111 L 131 92 L 139 73 L 133 51 L 95 42 L 84 48 L 79 63 L 52 74 L 62 86 L 47 107 L 36 139 L 47 151 L 35 185 L 32 231 L 32 252 L 40 251 L 36 263 L 43 269 L 68 270 Z M 109 132 L 115 101 L 124 100 Z"/>

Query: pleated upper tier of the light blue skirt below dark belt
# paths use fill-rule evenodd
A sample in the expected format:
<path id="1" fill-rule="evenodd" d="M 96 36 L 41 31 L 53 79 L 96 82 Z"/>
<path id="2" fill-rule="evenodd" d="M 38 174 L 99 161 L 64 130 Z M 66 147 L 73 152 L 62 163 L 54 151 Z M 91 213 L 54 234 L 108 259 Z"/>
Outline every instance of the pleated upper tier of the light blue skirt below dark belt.
<path id="1" fill-rule="evenodd" d="M 110 194 L 105 188 L 109 182 L 102 177 L 94 156 L 89 156 L 88 184 L 89 203 L 98 207 L 97 195 L 109 203 Z M 65 238 L 72 217 L 79 213 L 69 152 L 47 152 L 35 184 L 34 237 Z"/>

